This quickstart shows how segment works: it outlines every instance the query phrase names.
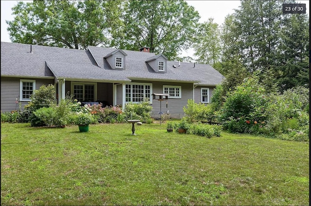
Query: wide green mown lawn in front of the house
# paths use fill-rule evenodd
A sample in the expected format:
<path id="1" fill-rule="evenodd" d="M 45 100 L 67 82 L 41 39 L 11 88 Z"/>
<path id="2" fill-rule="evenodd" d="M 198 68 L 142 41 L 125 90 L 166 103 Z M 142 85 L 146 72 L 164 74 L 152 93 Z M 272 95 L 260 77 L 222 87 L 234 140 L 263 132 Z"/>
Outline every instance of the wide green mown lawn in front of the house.
<path id="1" fill-rule="evenodd" d="M 309 205 L 309 142 L 1 123 L 1 205 Z"/>

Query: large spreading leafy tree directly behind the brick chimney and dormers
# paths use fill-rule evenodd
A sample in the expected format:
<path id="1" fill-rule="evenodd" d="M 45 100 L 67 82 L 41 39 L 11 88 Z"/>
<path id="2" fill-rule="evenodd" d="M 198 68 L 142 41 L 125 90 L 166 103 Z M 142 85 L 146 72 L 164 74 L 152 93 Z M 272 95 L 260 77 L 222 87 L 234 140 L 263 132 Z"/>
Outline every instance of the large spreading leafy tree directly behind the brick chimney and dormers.
<path id="1" fill-rule="evenodd" d="M 169 59 L 192 44 L 199 13 L 184 0 L 129 0 L 124 2 L 124 27 L 113 46 L 138 51 L 150 47 Z"/>

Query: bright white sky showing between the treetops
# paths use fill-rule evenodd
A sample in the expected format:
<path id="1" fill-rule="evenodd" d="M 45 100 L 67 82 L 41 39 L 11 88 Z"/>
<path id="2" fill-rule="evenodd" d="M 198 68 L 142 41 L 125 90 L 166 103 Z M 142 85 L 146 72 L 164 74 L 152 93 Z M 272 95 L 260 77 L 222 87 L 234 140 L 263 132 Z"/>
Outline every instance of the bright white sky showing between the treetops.
<path id="1" fill-rule="evenodd" d="M 27 0 L 24 0 L 27 1 Z M 28 0 L 29 1 L 29 0 Z M 31 2 L 32 0 L 30 0 Z M 214 22 L 221 25 L 225 21 L 228 14 L 233 14 L 234 9 L 240 6 L 240 0 L 186 0 L 187 3 L 199 12 L 201 18 L 199 22 L 203 23 L 208 18 L 213 18 Z M 11 8 L 17 5 L 17 0 L 1 0 L 1 41 L 11 42 L 7 32 L 7 24 L 5 20 L 13 20 Z M 307 14 L 309 13 L 309 0 L 298 0 L 298 3 L 306 3 Z M 280 8 L 282 9 L 282 8 Z M 193 56 L 193 51 L 183 51 L 182 56 Z"/>

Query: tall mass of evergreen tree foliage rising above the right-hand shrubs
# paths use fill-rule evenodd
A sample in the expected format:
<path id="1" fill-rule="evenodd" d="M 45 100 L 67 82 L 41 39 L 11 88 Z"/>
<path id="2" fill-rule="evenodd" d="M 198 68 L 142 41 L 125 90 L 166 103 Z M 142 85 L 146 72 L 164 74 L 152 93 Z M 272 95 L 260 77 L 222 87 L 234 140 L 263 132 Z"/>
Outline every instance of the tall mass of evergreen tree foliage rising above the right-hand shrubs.
<path id="1" fill-rule="evenodd" d="M 239 9 L 227 16 L 223 25 L 221 64 L 224 66 L 221 68 L 236 70 L 236 66 L 230 64 L 236 59 L 242 63 L 245 74 L 258 71 L 259 82 L 267 90 L 309 87 L 309 17 L 282 15 L 281 7 L 282 1 L 277 0 L 241 1 Z"/>

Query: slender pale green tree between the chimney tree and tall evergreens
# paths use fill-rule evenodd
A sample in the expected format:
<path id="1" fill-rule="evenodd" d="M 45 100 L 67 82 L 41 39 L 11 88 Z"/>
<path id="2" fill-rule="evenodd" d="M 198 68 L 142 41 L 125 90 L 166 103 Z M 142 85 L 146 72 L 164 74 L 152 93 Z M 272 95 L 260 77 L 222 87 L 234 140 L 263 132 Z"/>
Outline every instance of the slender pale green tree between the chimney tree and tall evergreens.
<path id="1" fill-rule="evenodd" d="M 194 54 L 198 56 L 197 61 L 202 64 L 214 65 L 220 59 L 220 30 L 213 20 L 209 18 L 207 22 L 200 24 L 195 35 Z"/>

